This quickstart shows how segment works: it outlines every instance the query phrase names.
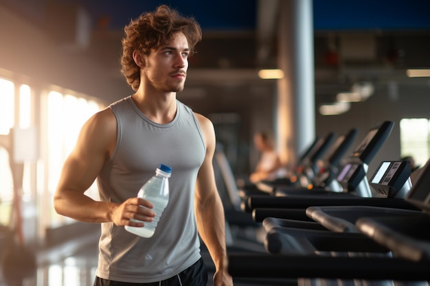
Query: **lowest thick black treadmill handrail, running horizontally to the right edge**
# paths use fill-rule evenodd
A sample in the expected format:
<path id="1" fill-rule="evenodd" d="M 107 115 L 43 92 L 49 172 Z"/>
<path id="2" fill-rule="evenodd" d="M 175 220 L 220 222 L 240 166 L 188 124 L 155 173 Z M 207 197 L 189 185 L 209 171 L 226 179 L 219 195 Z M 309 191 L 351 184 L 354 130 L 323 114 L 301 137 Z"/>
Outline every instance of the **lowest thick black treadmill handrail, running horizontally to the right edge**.
<path id="1" fill-rule="evenodd" d="M 228 254 L 233 278 L 341 278 L 395 281 L 430 280 L 430 263 L 396 257 Z"/>

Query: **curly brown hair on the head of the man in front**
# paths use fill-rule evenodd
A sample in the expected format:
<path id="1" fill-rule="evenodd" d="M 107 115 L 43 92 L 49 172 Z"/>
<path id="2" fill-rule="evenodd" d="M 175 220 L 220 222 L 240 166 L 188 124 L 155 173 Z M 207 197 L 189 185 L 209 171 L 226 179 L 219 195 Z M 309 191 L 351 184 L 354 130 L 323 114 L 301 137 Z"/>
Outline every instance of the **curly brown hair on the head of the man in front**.
<path id="1" fill-rule="evenodd" d="M 146 12 L 124 27 L 122 38 L 121 73 L 127 83 L 137 91 L 140 84 L 139 66 L 133 60 L 133 51 L 139 50 L 148 55 L 151 49 L 157 49 L 174 38 L 177 32 L 183 32 L 188 40 L 190 55 L 201 40 L 201 27 L 194 18 L 184 17 L 167 5 L 160 5 L 155 12 Z"/>

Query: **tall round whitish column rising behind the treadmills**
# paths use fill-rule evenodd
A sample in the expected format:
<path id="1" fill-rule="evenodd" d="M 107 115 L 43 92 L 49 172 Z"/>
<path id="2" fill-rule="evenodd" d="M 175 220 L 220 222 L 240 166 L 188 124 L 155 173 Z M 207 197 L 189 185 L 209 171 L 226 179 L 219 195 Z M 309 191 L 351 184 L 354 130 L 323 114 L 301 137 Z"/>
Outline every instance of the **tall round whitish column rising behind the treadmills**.
<path id="1" fill-rule="evenodd" d="M 278 147 L 293 163 L 315 139 L 313 1 L 280 1 L 278 65 Z"/>

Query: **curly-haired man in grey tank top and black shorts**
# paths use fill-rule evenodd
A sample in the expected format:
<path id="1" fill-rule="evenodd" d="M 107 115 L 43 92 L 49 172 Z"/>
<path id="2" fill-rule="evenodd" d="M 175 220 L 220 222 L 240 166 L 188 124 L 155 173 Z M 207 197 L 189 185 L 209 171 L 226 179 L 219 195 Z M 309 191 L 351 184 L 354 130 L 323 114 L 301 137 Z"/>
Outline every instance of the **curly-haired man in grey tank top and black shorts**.
<path id="1" fill-rule="evenodd" d="M 199 24 L 161 5 L 124 30 L 122 73 L 135 93 L 84 124 L 54 207 L 61 215 L 102 223 L 94 285 L 205 285 L 198 234 L 216 266 L 214 285 L 233 285 L 212 167 L 214 128 L 176 99 L 201 40 Z M 144 226 L 155 216 L 151 202 L 136 195 L 160 163 L 172 167 L 170 200 L 155 234 L 145 239 L 124 226 Z M 84 195 L 95 178 L 100 202 Z"/>

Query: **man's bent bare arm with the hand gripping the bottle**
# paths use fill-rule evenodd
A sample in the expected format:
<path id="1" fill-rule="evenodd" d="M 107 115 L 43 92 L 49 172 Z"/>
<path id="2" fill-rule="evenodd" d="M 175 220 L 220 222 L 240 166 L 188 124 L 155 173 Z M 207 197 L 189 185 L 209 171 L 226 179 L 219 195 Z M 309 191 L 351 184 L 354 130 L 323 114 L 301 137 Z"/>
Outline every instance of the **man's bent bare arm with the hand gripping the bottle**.
<path id="1" fill-rule="evenodd" d="M 115 147 L 116 134 L 116 119 L 109 108 L 96 113 L 84 124 L 75 148 L 65 160 L 54 194 L 57 213 L 82 222 L 113 222 L 117 226 L 143 226 L 130 222 L 131 218 L 152 220 L 152 211 L 139 208 L 139 204 L 152 207 L 146 200 L 131 198 L 115 204 L 98 202 L 84 195 Z"/>

